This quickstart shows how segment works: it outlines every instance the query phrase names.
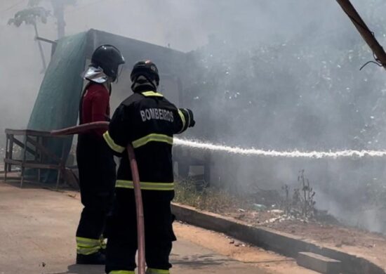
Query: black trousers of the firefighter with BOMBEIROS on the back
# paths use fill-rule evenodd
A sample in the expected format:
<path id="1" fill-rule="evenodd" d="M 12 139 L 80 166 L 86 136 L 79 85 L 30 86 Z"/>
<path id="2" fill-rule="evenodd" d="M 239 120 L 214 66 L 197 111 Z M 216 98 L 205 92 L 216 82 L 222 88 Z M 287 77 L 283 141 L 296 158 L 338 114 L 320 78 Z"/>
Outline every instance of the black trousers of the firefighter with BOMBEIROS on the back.
<path id="1" fill-rule="evenodd" d="M 174 216 L 171 214 L 173 191 L 142 190 L 145 217 L 145 259 L 148 268 L 168 270 Z M 111 226 L 110 226 L 111 225 Z M 137 221 L 132 189 L 116 188 L 112 221 L 109 222 L 106 273 L 136 267 Z"/>

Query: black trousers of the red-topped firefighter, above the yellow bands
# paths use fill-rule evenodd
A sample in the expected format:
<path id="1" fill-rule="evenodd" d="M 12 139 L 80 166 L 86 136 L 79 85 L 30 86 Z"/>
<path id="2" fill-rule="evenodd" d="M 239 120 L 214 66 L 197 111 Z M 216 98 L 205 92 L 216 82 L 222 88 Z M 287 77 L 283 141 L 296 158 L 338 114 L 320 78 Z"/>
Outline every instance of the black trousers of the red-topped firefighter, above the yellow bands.
<path id="1" fill-rule="evenodd" d="M 76 161 L 84 205 L 76 237 L 99 239 L 112 209 L 116 178 L 114 157 L 100 136 L 84 134 L 78 138 Z"/>

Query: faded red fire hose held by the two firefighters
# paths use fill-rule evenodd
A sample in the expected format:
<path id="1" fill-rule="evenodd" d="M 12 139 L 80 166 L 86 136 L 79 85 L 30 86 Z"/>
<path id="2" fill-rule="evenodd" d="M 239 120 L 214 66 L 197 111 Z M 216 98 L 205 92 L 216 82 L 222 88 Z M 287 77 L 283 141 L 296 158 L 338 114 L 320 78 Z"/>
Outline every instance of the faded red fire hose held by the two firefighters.
<path id="1" fill-rule="evenodd" d="M 72 126 L 67 129 L 59 129 L 51 131 L 52 135 L 71 135 L 91 131 L 92 129 L 108 129 L 108 122 L 93 122 L 90 124 L 82 124 L 80 126 Z M 138 235 L 138 274 L 145 274 L 145 226 L 143 221 L 143 204 L 142 194 L 140 190 L 140 175 L 138 174 L 137 161 L 133 147 L 127 146 L 128 159 L 130 161 L 131 174 L 133 176 L 135 209 L 137 213 L 137 235 Z"/>

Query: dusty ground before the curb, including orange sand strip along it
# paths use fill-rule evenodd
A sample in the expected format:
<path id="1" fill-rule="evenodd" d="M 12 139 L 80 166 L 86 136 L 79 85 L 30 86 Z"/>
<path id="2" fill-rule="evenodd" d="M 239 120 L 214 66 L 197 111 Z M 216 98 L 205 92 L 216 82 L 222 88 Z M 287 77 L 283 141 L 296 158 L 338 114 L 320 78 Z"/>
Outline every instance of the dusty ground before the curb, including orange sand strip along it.
<path id="1" fill-rule="evenodd" d="M 74 263 L 79 193 L 0 181 L 1 274 L 102 274 Z M 175 223 L 172 273 L 312 274 L 288 259 L 220 233 Z"/>

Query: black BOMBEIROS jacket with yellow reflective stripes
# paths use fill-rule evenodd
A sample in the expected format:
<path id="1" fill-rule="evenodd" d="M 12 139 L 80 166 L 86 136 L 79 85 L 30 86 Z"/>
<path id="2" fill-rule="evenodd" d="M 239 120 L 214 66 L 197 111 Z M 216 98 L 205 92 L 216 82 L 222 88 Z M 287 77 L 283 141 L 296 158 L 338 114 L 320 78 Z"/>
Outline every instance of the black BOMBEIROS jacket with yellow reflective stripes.
<path id="1" fill-rule="evenodd" d="M 178 109 L 161 93 L 133 93 L 119 105 L 103 137 L 122 156 L 116 188 L 133 188 L 126 146 L 133 145 L 142 190 L 173 191 L 173 134 L 192 126 L 190 110 Z M 135 129 L 135 130 L 133 130 Z"/>

